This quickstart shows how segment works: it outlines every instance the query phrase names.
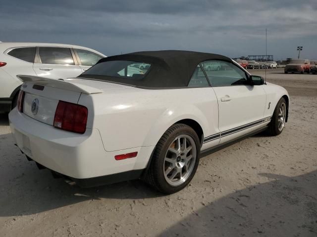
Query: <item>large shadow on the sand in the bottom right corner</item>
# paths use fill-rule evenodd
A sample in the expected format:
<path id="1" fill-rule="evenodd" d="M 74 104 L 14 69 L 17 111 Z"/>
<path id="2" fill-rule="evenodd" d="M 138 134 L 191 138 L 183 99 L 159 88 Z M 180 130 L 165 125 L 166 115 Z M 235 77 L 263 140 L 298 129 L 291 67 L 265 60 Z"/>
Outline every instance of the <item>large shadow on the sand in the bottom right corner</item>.
<path id="1" fill-rule="evenodd" d="M 272 181 L 206 204 L 161 236 L 317 236 L 317 171 L 259 175 Z"/>

